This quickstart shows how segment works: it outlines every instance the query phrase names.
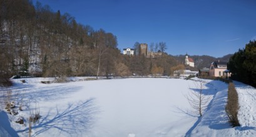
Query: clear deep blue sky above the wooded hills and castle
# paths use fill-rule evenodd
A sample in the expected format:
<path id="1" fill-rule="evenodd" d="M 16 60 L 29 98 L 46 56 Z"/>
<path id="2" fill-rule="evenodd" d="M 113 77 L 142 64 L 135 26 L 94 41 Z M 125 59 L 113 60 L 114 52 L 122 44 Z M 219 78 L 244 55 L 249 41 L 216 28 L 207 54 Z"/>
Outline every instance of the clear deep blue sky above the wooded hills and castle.
<path id="1" fill-rule="evenodd" d="M 36 0 L 34 0 L 34 3 Z M 104 29 L 118 48 L 166 42 L 171 55 L 222 57 L 256 39 L 255 0 L 39 0 L 80 24 Z"/>

